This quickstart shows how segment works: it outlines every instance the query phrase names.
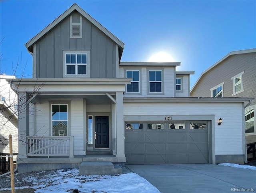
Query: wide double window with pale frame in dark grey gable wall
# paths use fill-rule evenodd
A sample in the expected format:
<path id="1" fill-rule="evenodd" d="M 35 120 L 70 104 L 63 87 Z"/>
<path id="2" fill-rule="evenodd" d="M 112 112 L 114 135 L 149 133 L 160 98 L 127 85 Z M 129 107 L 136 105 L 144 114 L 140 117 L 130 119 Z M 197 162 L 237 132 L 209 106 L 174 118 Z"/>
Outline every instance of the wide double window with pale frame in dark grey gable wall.
<path id="1" fill-rule="evenodd" d="M 64 50 L 63 77 L 88 78 L 90 77 L 90 51 Z"/>

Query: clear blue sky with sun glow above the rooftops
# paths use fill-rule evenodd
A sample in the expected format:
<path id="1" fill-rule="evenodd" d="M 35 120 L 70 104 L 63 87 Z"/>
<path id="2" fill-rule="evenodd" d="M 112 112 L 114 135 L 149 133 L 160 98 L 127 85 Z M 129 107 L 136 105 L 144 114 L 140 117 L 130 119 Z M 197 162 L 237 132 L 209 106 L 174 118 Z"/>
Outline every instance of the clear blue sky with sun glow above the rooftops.
<path id="1" fill-rule="evenodd" d="M 0 1 L 0 72 L 32 77 L 24 44 L 72 4 L 124 42 L 123 62 L 166 52 L 177 70 L 195 71 L 190 87 L 231 51 L 256 48 L 256 1 Z M 21 59 L 22 58 L 22 59 Z"/>

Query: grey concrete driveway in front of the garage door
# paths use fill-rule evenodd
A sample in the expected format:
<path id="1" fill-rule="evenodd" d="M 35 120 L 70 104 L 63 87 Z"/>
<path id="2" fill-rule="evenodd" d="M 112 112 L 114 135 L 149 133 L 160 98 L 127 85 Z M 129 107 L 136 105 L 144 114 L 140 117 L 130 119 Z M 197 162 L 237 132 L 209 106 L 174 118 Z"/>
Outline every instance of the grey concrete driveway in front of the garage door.
<path id="1" fill-rule="evenodd" d="M 161 193 L 256 192 L 256 171 L 214 164 L 126 165 Z"/>

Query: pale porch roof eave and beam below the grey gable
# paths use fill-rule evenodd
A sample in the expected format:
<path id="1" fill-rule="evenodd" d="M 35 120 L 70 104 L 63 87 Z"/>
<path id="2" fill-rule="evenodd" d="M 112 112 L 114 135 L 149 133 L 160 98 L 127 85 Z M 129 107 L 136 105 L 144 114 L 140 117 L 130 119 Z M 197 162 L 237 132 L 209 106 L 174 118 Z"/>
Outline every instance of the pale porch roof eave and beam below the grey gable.
<path id="1" fill-rule="evenodd" d="M 90 93 L 125 92 L 131 78 L 61 78 L 8 80 L 17 92 L 28 93 Z"/>

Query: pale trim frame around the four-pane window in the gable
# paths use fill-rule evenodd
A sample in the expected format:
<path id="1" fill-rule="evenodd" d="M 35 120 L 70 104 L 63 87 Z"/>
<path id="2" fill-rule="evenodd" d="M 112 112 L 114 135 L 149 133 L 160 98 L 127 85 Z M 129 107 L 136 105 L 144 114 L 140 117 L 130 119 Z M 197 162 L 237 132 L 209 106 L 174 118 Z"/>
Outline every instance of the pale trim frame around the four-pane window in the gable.
<path id="1" fill-rule="evenodd" d="M 66 54 L 86 54 L 86 74 L 66 74 Z M 73 64 L 76 65 L 85 65 L 85 64 Z M 77 69 L 76 69 L 77 73 Z M 62 77 L 63 78 L 90 78 L 90 50 L 62 50 Z"/>

